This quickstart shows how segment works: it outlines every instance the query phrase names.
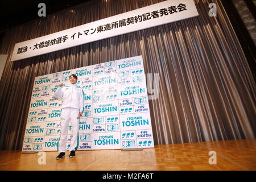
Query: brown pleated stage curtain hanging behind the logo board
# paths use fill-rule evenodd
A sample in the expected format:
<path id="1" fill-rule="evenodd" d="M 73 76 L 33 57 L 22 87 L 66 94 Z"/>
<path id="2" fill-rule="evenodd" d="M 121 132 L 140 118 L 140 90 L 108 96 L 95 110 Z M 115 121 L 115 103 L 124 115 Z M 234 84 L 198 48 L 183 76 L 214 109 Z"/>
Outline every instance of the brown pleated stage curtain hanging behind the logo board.
<path id="1" fill-rule="evenodd" d="M 11 62 L 0 82 L 0 150 L 21 150 L 34 77 L 143 56 L 159 74 L 150 100 L 155 144 L 255 138 L 255 81 L 221 1 L 194 0 L 199 16 Z M 92 1 L 6 32 L 0 54 L 14 44 L 125 13 L 160 0 Z M 209 3 L 217 16 L 208 15 Z"/>

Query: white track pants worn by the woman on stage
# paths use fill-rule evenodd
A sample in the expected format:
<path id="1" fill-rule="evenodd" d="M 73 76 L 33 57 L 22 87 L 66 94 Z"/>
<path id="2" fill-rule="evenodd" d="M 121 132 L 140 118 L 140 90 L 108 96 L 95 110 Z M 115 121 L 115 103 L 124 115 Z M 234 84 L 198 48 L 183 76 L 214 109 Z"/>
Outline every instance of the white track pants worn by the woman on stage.
<path id="1" fill-rule="evenodd" d="M 59 153 L 67 151 L 69 121 L 71 121 L 73 136 L 69 147 L 69 151 L 76 151 L 79 145 L 79 109 L 63 108 L 61 110 L 60 116 L 61 134 L 59 139 L 59 145 L 57 148 Z"/>

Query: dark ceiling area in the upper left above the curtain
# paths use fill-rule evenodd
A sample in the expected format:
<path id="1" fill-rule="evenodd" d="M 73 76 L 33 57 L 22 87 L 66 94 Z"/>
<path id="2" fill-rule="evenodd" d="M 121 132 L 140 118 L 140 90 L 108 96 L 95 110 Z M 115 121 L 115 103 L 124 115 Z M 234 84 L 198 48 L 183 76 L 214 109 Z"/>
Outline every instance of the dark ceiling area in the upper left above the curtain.
<path id="1" fill-rule="evenodd" d="M 1 0 L 0 1 L 0 34 L 11 27 L 41 18 L 38 16 L 38 4 L 46 4 L 46 16 L 69 7 L 92 0 Z"/>

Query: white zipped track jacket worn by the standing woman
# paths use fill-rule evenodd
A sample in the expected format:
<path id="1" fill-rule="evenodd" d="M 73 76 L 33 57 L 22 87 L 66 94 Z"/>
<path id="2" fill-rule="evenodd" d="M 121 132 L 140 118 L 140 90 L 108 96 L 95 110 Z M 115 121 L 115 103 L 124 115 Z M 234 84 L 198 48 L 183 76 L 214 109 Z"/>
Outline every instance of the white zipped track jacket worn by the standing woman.
<path id="1" fill-rule="evenodd" d="M 59 86 L 54 93 L 54 97 L 63 98 L 61 109 L 69 107 L 79 109 L 80 113 L 84 111 L 84 91 L 77 84 Z"/>

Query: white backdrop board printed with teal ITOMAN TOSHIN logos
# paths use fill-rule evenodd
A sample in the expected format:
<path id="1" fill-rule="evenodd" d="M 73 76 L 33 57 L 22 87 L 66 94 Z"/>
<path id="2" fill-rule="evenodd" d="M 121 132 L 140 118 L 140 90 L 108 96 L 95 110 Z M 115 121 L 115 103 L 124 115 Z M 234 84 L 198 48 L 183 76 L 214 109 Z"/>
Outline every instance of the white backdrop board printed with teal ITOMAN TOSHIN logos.
<path id="1" fill-rule="evenodd" d="M 22 151 L 56 151 L 62 100 L 60 82 L 78 77 L 84 90 L 78 150 L 151 148 L 154 140 L 142 56 L 35 77 Z M 69 123 L 67 147 L 72 139 Z"/>

